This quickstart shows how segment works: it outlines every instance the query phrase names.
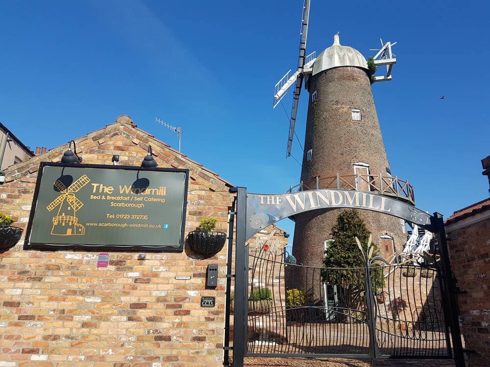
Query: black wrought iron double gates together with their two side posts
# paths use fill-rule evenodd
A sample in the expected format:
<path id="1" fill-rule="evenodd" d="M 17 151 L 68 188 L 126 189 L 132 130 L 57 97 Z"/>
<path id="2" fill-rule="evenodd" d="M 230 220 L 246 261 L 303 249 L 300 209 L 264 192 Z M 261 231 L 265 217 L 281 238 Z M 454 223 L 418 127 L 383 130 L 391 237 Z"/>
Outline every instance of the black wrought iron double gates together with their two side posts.
<path id="1" fill-rule="evenodd" d="M 453 358 L 465 365 L 440 214 L 422 224 L 437 234 L 432 254 L 390 264 L 359 246 L 364 266 L 321 268 L 245 245 L 245 207 L 251 202 L 257 212 L 245 195 L 238 188 L 233 366 L 251 356 Z"/>

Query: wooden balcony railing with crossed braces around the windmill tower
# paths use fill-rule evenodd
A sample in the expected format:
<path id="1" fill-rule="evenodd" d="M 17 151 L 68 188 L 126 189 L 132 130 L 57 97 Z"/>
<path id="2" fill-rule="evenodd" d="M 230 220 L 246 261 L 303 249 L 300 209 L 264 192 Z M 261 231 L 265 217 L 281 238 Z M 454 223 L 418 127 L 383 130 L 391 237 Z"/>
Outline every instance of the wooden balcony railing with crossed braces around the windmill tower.
<path id="1" fill-rule="evenodd" d="M 297 192 L 315 189 L 342 189 L 372 192 L 390 196 L 393 199 L 415 205 L 414 187 L 408 181 L 398 177 L 362 175 L 339 175 L 334 177 L 320 178 L 314 180 L 301 181 L 299 184 L 291 186 L 287 192 Z"/>

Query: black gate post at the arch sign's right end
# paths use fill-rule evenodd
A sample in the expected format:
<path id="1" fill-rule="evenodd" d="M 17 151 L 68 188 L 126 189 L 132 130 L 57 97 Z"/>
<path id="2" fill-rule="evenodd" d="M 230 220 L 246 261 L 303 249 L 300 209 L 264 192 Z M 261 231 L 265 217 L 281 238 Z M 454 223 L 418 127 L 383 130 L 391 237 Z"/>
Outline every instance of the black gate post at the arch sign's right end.
<path id="1" fill-rule="evenodd" d="M 456 367 L 465 367 L 463 343 L 461 342 L 461 331 L 459 327 L 458 313 L 456 312 L 456 310 L 458 309 L 455 293 L 456 285 L 454 284 L 452 278 L 451 263 L 449 260 L 449 252 L 447 250 L 446 232 L 444 230 L 444 221 L 442 219 L 442 214 L 435 212 L 434 216 L 431 218 L 431 222 L 432 228 L 436 232 L 439 252 L 441 256 L 442 282 L 445 288 L 445 292 L 442 292 L 442 297 L 445 298 L 444 303 L 447 305 L 447 310 L 444 310 L 444 318 L 446 319 L 446 321 L 449 321 L 449 325 L 451 328 L 454 361 L 456 362 Z M 446 315 L 448 317 L 446 317 Z"/>

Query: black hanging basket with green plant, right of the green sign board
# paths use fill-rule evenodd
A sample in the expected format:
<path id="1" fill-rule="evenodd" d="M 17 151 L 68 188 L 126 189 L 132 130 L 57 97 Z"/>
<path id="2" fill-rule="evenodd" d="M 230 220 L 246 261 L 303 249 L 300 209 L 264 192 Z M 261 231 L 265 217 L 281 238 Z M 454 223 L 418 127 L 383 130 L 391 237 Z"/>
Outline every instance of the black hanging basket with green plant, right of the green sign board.
<path id="1" fill-rule="evenodd" d="M 187 239 L 195 252 L 212 255 L 221 251 L 226 241 L 226 233 L 213 231 L 216 223 L 218 220 L 215 218 L 203 219 L 195 231 L 189 232 Z"/>

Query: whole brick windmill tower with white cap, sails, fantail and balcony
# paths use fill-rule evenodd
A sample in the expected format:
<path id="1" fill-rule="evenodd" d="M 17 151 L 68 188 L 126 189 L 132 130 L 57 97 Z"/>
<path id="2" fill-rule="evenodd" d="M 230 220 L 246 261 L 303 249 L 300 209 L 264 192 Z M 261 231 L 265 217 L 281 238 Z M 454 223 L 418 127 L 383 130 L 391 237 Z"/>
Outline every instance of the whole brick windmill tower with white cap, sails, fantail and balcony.
<path id="1" fill-rule="evenodd" d="M 293 190 L 340 188 L 387 195 L 414 205 L 408 182 L 392 175 L 379 126 L 371 83 L 391 80 L 396 59 L 387 42 L 373 64 L 387 66 L 384 76 L 371 75 L 366 58 L 342 46 L 339 34 L 332 46 L 316 57 L 305 56 L 309 1 L 304 2 L 298 70 L 276 84 L 274 107 L 295 83 L 287 156 L 291 155 L 297 101 L 303 80 L 309 92 L 301 183 Z M 314 210 L 296 215 L 293 254 L 298 263 L 321 266 L 332 226 L 342 209 Z M 405 223 L 390 215 L 359 210 L 373 242 L 385 258 L 401 251 L 407 240 Z"/>

